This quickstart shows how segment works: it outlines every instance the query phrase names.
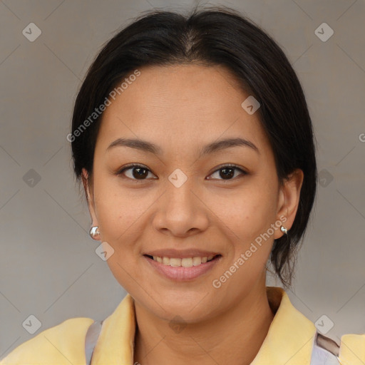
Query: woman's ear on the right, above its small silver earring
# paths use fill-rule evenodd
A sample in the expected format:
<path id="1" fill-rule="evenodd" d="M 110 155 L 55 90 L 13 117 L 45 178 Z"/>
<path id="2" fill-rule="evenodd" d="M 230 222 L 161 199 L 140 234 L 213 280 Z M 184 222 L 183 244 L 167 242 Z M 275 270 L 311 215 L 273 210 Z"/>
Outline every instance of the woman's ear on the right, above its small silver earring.
<path id="1" fill-rule="evenodd" d="M 297 215 L 300 190 L 302 189 L 304 173 L 299 168 L 291 173 L 284 185 L 280 187 L 278 197 L 277 220 L 282 221 L 282 225 L 289 231 L 293 225 L 295 215 Z M 275 230 L 274 239 L 282 237 L 281 230 Z"/>

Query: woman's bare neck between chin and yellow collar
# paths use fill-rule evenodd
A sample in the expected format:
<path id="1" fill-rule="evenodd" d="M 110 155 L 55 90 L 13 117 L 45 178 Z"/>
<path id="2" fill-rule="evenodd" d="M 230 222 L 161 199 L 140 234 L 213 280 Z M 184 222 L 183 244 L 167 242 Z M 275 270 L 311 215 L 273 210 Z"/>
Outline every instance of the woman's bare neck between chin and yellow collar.
<path id="1" fill-rule="evenodd" d="M 248 365 L 255 359 L 274 318 L 261 285 L 234 307 L 209 321 L 174 333 L 168 321 L 135 305 L 135 364 Z"/>

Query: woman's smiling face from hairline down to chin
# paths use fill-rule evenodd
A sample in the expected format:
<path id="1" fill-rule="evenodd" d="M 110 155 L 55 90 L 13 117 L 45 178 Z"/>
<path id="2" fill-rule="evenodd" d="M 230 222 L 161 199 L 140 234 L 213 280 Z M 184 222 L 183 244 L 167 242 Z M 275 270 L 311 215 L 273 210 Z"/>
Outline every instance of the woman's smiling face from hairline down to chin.
<path id="1" fill-rule="evenodd" d="M 292 225 L 302 175 L 279 186 L 258 111 L 242 108 L 249 95 L 225 68 L 139 71 L 103 113 L 93 225 L 106 250 L 113 247 L 113 275 L 138 304 L 164 319 L 208 319 L 264 288 L 273 240 L 283 235 L 281 224 Z M 247 142 L 220 144 L 238 138 Z M 132 163 L 142 167 L 118 175 Z"/>

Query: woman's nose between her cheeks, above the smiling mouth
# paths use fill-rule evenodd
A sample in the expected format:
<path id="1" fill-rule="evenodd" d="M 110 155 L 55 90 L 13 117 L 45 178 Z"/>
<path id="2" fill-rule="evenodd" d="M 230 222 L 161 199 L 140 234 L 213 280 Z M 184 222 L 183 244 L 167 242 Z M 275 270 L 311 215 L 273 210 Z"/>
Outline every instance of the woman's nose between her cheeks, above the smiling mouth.
<path id="1" fill-rule="evenodd" d="M 175 237 L 188 237 L 207 229 L 209 208 L 191 181 L 187 179 L 180 187 L 167 184 L 165 193 L 156 202 L 155 230 Z"/>

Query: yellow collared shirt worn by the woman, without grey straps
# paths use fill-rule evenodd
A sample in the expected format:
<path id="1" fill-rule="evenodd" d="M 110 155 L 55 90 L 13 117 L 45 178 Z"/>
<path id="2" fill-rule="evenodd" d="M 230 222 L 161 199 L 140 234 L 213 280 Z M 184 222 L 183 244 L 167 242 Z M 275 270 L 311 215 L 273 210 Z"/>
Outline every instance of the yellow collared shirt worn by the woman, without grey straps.
<path id="1" fill-rule="evenodd" d="M 279 287 L 267 287 L 275 315 L 264 342 L 251 365 L 309 365 L 317 329 L 289 301 Z M 67 319 L 25 341 L 11 351 L 0 365 L 85 365 L 85 339 L 93 319 Z M 103 321 L 93 351 L 93 365 L 133 365 L 135 309 L 130 294 Z M 341 337 L 341 365 L 365 364 L 365 334 Z"/>

